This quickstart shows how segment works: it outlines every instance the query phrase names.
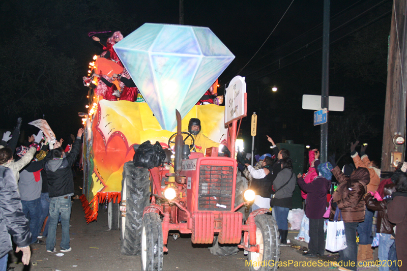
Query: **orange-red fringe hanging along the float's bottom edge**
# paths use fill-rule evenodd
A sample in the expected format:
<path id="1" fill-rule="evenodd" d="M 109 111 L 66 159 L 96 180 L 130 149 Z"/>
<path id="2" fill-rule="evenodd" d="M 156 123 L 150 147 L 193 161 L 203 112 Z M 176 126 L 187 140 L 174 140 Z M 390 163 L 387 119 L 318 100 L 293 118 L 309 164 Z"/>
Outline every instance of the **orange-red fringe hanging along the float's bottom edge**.
<path id="1" fill-rule="evenodd" d="M 99 192 L 93 197 L 90 203 L 84 194 L 80 195 L 79 199 L 82 202 L 85 220 L 89 224 L 90 222 L 97 220 L 100 202 L 110 202 L 113 200 L 113 203 L 120 203 L 122 196 L 120 192 Z"/>

